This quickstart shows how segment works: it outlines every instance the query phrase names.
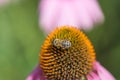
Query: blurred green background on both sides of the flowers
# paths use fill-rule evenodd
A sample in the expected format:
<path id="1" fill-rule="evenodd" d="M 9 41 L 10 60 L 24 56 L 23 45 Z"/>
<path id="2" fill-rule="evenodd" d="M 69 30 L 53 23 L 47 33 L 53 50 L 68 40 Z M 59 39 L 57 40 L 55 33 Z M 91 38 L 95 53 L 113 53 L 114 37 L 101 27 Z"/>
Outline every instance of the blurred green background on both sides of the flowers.
<path id="1" fill-rule="evenodd" d="M 120 80 L 120 0 L 99 3 L 105 22 L 85 33 L 97 59 Z M 0 80 L 25 80 L 37 65 L 45 39 L 39 28 L 38 4 L 39 0 L 16 0 L 0 6 Z"/>

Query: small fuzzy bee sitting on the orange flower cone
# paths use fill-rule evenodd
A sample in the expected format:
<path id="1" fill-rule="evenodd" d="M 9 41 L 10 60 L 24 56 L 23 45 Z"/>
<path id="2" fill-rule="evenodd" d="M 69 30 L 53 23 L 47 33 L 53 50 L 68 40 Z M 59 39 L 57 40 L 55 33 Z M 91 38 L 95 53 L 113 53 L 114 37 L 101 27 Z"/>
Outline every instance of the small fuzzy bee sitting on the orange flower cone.
<path id="1" fill-rule="evenodd" d="M 71 47 L 71 42 L 69 40 L 66 40 L 66 39 L 63 39 L 63 40 L 62 39 L 54 39 L 53 45 L 56 47 L 68 49 L 69 47 Z"/>

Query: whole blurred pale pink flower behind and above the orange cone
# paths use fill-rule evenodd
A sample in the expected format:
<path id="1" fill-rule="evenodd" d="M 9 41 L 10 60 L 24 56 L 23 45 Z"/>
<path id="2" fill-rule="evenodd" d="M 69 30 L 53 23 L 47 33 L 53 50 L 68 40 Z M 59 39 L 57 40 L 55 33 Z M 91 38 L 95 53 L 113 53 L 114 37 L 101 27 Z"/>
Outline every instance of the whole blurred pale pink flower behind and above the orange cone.
<path id="1" fill-rule="evenodd" d="M 89 30 L 104 21 L 97 0 L 41 0 L 39 14 L 40 25 L 46 33 L 63 25 Z"/>

